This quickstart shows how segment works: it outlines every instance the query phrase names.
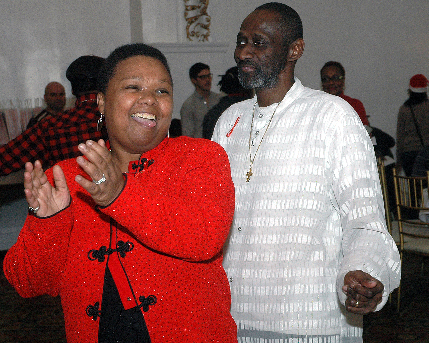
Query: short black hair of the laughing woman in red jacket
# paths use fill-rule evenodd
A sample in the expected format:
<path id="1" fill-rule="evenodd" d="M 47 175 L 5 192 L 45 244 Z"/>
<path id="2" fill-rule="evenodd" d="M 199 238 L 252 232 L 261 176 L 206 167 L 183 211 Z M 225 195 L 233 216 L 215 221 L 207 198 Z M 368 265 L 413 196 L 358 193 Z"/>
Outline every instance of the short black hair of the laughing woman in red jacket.
<path id="1" fill-rule="evenodd" d="M 164 54 L 153 46 L 143 43 L 133 43 L 122 45 L 111 52 L 109 57 L 103 62 L 103 65 L 98 72 L 98 91 L 106 94 L 106 88 L 110 79 L 115 75 L 116 67 L 119 62 L 126 60 L 133 56 L 147 56 L 159 60 L 167 69 L 168 75 L 171 77 L 170 67 L 168 66 L 167 59 Z"/>

